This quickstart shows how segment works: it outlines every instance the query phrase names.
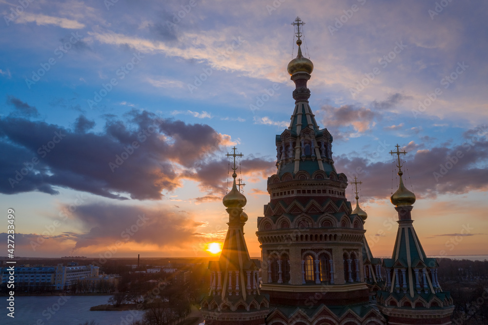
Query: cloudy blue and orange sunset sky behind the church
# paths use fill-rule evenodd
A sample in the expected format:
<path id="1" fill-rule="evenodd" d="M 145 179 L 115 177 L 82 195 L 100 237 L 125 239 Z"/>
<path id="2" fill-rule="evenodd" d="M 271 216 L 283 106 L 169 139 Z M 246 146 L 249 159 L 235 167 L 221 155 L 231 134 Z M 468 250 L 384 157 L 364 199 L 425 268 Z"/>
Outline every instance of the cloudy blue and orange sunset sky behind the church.
<path id="1" fill-rule="evenodd" d="M 16 256 L 210 256 L 233 145 L 260 256 L 297 16 L 310 107 L 337 171 L 363 182 L 373 254 L 393 249 L 397 143 L 427 254 L 488 254 L 486 1 L 0 0 L 0 13 L 0 233 L 15 209 Z"/>

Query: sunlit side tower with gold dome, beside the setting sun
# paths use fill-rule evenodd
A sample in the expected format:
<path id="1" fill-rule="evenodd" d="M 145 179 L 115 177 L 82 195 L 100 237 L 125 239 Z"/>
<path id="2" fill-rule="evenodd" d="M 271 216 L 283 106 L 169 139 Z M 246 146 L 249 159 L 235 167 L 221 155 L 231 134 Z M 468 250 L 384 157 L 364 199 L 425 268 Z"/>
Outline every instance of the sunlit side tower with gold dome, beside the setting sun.
<path id="1" fill-rule="evenodd" d="M 222 200 L 229 214 L 229 229 L 219 261 L 209 262 L 210 290 L 200 302 L 205 324 L 264 325 L 269 313 L 269 300 L 259 288 L 259 261 L 251 260 L 244 240 L 247 214 L 243 207 L 247 200 L 236 185 L 236 147 L 232 169 L 232 189 Z"/>

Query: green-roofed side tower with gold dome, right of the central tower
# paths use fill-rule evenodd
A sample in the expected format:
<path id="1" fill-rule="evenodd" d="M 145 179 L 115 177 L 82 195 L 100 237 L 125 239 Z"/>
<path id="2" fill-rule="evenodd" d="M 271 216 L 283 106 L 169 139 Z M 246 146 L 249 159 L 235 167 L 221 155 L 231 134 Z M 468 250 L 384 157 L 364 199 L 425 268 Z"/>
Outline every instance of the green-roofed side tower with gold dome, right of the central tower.
<path id="1" fill-rule="evenodd" d="M 396 145 L 400 184 L 391 195 L 398 212 L 398 232 L 391 259 L 384 259 L 386 282 L 378 291 L 378 307 L 388 324 L 451 324 L 454 305 L 449 292 L 442 291 L 437 281 L 438 264 L 428 258 L 413 228 L 411 210 L 415 194 L 402 180 L 400 155 L 407 154 Z"/>

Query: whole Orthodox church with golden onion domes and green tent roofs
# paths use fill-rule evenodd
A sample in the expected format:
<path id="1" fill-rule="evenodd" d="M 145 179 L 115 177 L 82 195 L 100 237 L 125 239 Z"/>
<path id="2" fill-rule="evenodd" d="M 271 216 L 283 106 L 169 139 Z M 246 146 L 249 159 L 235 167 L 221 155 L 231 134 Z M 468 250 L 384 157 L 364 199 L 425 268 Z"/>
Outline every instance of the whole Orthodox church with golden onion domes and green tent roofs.
<path id="1" fill-rule="evenodd" d="M 365 237 L 366 212 L 346 198 L 347 177 L 332 156 L 333 136 L 315 121 L 307 81 L 313 63 L 301 49 L 303 22 L 297 17 L 298 55 L 287 70 L 295 83 L 289 127 L 275 138 L 277 172 L 268 178 L 269 203 L 258 218 L 261 261 L 252 260 L 244 240 L 246 198 L 236 185 L 223 203 L 228 232 L 219 261 L 210 262 L 210 288 L 201 302 L 205 324 L 451 324 L 454 309 L 437 281 L 438 264 L 428 258 L 413 228 L 415 194 L 402 180 L 391 196 L 398 212 L 392 257 L 374 258 Z"/>

